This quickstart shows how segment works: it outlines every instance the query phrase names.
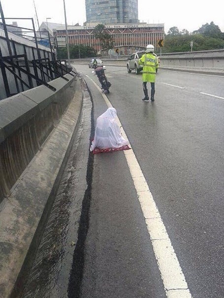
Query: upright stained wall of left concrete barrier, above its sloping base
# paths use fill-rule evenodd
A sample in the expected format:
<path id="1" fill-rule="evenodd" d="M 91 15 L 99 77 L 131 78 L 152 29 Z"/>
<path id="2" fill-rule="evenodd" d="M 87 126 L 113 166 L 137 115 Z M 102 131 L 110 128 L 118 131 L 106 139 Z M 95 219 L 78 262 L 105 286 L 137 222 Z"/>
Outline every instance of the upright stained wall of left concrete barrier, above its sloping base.
<path id="1" fill-rule="evenodd" d="M 59 122 L 75 92 L 75 78 L 51 81 L 0 100 L 0 201 Z M 72 88 L 70 88 L 72 87 Z M 3 183 L 2 183 L 3 182 Z"/>

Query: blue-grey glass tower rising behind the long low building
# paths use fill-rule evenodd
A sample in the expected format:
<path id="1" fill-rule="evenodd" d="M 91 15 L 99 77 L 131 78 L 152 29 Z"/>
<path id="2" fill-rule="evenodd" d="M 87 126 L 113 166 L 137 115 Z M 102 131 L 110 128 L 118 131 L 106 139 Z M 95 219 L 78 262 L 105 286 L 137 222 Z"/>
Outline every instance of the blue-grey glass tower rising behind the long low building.
<path id="1" fill-rule="evenodd" d="M 86 23 L 136 24 L 138 0 L 86 0 Z"/>

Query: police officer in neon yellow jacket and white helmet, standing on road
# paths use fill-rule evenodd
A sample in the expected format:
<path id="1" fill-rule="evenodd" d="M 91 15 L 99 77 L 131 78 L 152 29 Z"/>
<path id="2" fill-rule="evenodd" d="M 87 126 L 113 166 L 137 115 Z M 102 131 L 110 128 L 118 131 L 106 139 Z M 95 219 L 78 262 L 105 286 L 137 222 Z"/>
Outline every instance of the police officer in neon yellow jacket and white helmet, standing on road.
<path id="1" fill-rule="evenodd" d="M 156 72 L 159 66 L 158 59 L 154 55 L 154 46 L 152 44 L 148 44 L 146 47 L 146 53 L 142 55 L 139 59 L 139 65 L 143 65 L 142 71 L 142 80 L 143 80 L 143 91 L 144 91 L 144 101 L 149 101 L 147 82 L 151 83 L 151 101 L 154 101 L 155 94 L 155 80 L 156 80 Z"/>

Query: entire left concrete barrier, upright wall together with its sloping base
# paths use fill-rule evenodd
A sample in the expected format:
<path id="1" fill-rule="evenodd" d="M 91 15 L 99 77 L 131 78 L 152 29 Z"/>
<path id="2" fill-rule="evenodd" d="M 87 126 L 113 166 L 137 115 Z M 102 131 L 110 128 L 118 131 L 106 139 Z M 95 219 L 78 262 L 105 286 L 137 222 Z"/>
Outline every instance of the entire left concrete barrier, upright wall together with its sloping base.
<path id="1" fill-rule="evenodd" d="M 0 297 L 19 297 L 38 248 L 82 108 L 67 74 L 0 101 Z"/>

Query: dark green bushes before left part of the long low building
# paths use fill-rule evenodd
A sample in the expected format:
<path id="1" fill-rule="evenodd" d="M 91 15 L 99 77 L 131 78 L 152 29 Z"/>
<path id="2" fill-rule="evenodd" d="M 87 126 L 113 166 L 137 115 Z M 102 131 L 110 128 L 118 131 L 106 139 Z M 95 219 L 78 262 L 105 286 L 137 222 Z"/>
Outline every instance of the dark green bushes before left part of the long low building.
<path id="1" fill-rule="evenodd" d="M 96 56 L 95 49 L 84 46 L 82 44 L 80 45 L 69 45 L 69 52 L 70 52 L 70 59 L 77 59 L 79 58 L 79 52 L 80 52 L 80 58 L 91 58 Z M 58 59 L 67 59 L 67 48 L 59 48 L 58 49 Z"/>

